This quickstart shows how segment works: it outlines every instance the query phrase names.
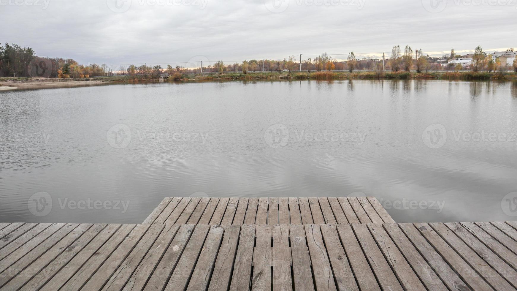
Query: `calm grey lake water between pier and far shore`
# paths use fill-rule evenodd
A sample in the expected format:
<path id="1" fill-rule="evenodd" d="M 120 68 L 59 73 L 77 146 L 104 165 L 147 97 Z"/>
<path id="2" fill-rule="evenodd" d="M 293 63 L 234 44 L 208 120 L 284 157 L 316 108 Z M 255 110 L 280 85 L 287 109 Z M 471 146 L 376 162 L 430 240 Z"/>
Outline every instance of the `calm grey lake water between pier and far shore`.
<path id="1" fill-rule="evenodd" d="M 515 132 L 515 82 L 3 92 L 0 222 L 139 223 L 165 196 L 347 195 L 398 222 L 515 220 Z"/>

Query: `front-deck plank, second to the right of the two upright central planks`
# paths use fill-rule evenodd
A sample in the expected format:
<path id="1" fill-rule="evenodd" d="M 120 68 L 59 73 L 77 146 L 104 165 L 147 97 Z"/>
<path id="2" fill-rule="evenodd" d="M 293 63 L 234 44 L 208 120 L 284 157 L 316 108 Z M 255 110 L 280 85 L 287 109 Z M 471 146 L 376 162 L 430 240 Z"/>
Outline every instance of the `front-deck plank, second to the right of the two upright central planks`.
<path id="1" fill-rule="evenodd" d="M 307 236 L 307 247 L 311 257 L 312 268 L 314 270 L 314 283 L 318 291 L 321 290 L 337 290 L 330 262 L 327 256 L 327 250 L 323 243 L 320 225 L 306 224 L 305 234 Z"/>

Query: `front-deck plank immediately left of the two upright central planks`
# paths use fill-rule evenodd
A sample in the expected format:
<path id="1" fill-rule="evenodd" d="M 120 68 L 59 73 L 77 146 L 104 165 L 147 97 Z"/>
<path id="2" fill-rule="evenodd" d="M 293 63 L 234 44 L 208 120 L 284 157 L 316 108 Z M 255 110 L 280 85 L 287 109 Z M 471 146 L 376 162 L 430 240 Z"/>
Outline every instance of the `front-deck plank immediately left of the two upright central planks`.
<path id="1" fill-rule="evenodd" d="M 250 288 L 254 243 L 255 225 L 241 225 L 230 291 L 248 290 Z"/>

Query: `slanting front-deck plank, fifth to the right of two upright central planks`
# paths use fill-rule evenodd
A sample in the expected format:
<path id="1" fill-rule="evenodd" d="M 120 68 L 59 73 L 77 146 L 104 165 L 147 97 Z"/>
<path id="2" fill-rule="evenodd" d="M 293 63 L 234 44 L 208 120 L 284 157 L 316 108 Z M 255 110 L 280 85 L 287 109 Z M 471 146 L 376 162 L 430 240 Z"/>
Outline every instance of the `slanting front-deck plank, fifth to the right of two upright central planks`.
<path id="1" fill-rule="evenodd" d="M 391 270 L 389 264 L 386 262 L 381 250 L 379 250 L 377 243 L 370 234 L 370 231 L 368 231 L 368 226 L 363 223 L 358 223 L 352 224 L 352 228 L 361 244 L 364 254 L 367 255 L 366 257 L 370 262 L 370 266 L 381 287 L 385 290 L 402 291 L 402 286 Z"/>

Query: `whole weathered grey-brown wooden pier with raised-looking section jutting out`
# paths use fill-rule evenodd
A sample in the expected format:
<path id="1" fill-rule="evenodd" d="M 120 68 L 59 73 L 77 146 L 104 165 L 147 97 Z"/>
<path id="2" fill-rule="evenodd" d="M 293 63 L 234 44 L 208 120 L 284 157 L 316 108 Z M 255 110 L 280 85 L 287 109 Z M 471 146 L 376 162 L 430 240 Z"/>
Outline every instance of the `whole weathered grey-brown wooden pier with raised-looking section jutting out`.
<path id="1" fill-rule="evenodd" d="M 170 197 L 142 224 L 0 223 L 0 289 L 517 288 L 517 222 L 397 224 L 377 203 Z"/>

